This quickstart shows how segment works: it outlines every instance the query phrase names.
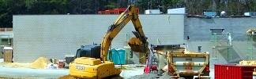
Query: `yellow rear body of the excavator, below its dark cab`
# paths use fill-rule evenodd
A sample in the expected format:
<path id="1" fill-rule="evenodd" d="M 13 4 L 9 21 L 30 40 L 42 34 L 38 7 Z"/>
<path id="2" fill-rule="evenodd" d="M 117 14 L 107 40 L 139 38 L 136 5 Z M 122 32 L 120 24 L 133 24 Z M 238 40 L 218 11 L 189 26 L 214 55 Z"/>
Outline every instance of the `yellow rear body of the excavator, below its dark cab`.
<path id="1" fill-rule="evenodd" d="M 100 59 L 81 57 L 70 63 L 70 75 L 73 77 L 100 79 L 112 75 L 119 75 L 120 68 L 115 68 L 114 63 Z"/>

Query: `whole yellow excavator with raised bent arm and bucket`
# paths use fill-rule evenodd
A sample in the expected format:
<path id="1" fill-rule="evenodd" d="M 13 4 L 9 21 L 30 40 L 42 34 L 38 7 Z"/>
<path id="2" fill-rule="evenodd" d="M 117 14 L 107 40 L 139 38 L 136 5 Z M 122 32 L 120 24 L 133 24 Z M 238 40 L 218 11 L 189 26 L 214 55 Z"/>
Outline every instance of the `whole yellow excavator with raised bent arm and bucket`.
<path id="1" fill-rule="evenodd" d="M 100 45 L 100 59 L 97 57 L 87 56 L 82 57 L 81 53 L 77 55 L 77 58 L 70 63 L 70 76 L 80 78 L 104 78 L 119 75 L 121 68 L 115 67 L 115 64 L 111 61 L 107 61 L 107 52 L 111 46 L 111 41 L 128 22 L 132 21 L 135 31 L 133 31 L 136 37 L 131 38 L 128 41 L 128 45 L 134 52 L 147 52 L 148 41 L 142 30 L 140 20 L 138 18 L 138 12 L 135 5 L 129 5 L 125 12 L 121 13 L 115 23 L 113 23 L 104 35 Z M 77 50 L 78 51 L 78 50 Z M 90 51 L 91 53 L 96 53 Z M 146 53 L 145 53 L 146 55 Z"/>

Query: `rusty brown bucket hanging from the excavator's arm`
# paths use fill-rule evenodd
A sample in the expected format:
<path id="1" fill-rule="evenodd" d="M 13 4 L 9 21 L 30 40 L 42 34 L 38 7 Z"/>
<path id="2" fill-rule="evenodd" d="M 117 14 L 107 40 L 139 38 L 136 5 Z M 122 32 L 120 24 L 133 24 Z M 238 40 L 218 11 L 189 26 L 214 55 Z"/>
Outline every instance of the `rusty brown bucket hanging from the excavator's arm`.
<path id="1" fill-rule="evenodd" d="M 131 50 L 134 52 L 145 52 L 145 45 L 143 45 L 139 38 L 130 38 L 128 45 L 130 45 Z"/>

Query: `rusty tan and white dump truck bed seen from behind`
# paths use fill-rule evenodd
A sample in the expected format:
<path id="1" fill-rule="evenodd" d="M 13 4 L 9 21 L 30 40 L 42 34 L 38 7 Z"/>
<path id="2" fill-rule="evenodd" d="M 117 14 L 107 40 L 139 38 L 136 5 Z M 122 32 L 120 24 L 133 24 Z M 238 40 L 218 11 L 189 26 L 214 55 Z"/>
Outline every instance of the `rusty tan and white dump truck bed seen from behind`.
<path id="1" fill-rule="evenodd" d="M 209 67 L 209 54 L 201 53 L 170 53 L 169 69 L 172 74 L 199 75 L 205 67 Z M 170 68 L 171 67 L 171 68 Z"/>

